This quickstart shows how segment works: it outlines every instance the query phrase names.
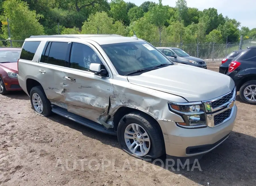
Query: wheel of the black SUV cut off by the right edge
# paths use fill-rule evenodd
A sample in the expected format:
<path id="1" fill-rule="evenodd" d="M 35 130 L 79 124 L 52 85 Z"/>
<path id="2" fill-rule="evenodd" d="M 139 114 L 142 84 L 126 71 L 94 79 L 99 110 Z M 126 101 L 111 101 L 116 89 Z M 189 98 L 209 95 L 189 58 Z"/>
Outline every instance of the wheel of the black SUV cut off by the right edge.
<path id="1" fill-rule="evenodd" d="M 251 86 L 251 89 L 253 91 L 250 91 L 252 93 L 252 95 L 249 95 L 247 96 L 248 99 L 251 99 L 251 100 L 248 100 L 246 97 L 245 97 L 245 92 L 247 93 L 250 93 L 249 92 L 249 89 L 247 89 L 248 86 Z M 247 81 L 245 82 L 241 88 L 240 88 L 240 91 L 239 91 L 239 95 L 240 95 L 240 98 L 245 102 L 245 103 L 249 103 L 249 104 L 252 104 L 252 105 L 256 105 L 256 80 L 251 80 L 251 81 Z M 253 96 L 255 98 L 255 101 L 253 101 Z"/>

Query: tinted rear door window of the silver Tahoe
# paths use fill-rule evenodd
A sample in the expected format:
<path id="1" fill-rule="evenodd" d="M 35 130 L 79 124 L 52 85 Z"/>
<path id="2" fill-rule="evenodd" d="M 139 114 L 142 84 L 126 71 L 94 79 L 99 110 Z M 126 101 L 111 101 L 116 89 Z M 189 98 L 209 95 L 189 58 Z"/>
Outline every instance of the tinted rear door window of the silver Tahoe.
<path id="1" fill-rule="evenodd" d="M 67 42 L 51 42 L 51 46 L 46 49 L 46 55 L 49 48 L 49 56 L 48 56 L 48 62 L 52 65 L 58 65 L 65 67 L 67 66 L 68 62 L 66 59 L 67 49 L 68 49 L 68 43 Z M 46 56 L 44 56 L 44 63 L 46 63 Z"/>

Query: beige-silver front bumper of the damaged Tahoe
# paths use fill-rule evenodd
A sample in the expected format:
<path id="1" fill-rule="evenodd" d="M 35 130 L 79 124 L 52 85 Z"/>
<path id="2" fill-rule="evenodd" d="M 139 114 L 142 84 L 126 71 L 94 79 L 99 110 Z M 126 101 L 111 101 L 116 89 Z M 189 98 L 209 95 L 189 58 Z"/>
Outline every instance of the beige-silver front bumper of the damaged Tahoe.
<path id="1" fill-rule="evenodd" d="M 236 105 L 232 109 L 234 111 L 231 118 L 214 128 L 185 129 L 178 127 L 175 121 L 158 120 L 164 134 L 166 154 L 170 157 L 201 156 L 216 148 L 228 137 L 234 127 Z M 188 150 L 192 148 L 194 150 Z M 199 151 L 196 148 L 199 148 Z"/>

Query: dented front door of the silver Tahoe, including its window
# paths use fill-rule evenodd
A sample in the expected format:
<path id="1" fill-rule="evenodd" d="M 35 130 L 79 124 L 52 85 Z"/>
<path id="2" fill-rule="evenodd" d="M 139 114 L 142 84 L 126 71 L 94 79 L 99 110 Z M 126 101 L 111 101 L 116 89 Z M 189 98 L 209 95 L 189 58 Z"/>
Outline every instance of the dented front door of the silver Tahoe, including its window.
<path id="1" fill-rule="evenodd" d="M 69 112 L 100 123 L 100 116 L 109 106 L 110 74 L 102 77 L 89 71 L 91 63 L 101 64 L 102 68 L 106 66 L 96 51 L 89 43 L 72 43 L 64 97 Z"/>

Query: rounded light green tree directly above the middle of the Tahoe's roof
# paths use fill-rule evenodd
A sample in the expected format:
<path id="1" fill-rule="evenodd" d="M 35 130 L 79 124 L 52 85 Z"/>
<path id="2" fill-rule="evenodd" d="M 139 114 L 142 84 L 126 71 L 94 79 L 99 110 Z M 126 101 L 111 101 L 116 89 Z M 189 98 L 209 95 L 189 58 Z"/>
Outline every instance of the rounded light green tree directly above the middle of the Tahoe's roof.
<path id="1" fill-rule="evenodd" d="M 112 34 L 113 18 L 106 12 L 97 12 L 90 15 L 83 23 L 81 34 Z"/>

